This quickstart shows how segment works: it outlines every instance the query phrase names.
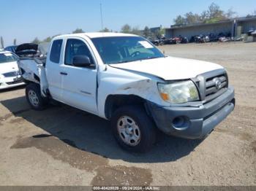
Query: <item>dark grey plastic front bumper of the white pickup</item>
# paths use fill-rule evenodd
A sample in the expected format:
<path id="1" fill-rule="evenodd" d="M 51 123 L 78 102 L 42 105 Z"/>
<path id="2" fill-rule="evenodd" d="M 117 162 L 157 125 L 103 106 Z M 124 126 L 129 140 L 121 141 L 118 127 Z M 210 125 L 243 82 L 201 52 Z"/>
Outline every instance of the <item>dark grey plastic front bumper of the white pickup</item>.
<path id="1" fill-rule="evenodd" d="M 234 97 L 234 89 L 229 87 L 218 98 L 201 106 L 162 107 L 148 102 L 147 109 L 164 133 L 185 139 L 203 139 L 233 111 Z M 184 125 L 176 125 L 177 117 L 184 119 Z"/>

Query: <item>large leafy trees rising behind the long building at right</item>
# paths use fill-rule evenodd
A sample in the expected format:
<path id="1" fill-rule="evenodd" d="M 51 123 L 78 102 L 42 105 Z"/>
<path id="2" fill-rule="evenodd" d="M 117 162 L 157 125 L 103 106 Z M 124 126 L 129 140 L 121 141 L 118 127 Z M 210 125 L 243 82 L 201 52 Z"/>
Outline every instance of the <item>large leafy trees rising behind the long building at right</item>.
<path id="1" fill-rule="evenodd" d="M 212 3 L 206 11 L 203 11 L 200 15 L 192 12 L 187 12 L 184 16 L 178 15 L 174 19 L 176 26 L 190 25 L 195 23 L 215 23 L 219 20 L 226 20 L 234 17 L 236 12 L 232 9 L 228 9 L 227 12 L 220 9 L 219 5 Z"/>

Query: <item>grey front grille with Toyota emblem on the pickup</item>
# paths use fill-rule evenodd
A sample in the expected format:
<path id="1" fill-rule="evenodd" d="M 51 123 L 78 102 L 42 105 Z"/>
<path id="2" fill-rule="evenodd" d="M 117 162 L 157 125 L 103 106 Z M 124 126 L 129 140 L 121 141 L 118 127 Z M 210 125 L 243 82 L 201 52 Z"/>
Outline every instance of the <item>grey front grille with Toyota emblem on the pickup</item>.
<path id="1" fill-rule="evenodd" d="M 208 102 L 225 93 L 228 87 L 228 77 L 224 69 L 210 71 L 197 77 L 197 86 L 202 101 Z"/>

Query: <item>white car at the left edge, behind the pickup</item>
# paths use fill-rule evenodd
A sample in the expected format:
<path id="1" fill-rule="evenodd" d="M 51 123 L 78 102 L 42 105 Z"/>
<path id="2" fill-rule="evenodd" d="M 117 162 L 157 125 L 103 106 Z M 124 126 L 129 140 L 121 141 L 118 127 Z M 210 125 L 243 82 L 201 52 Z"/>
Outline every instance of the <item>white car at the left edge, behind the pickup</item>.
<path id="1" fill-rule="evenodd" d="M 18 56 L 12 52 L 0 52 L 0 90 L 24 85 L 18 69 Z"/>

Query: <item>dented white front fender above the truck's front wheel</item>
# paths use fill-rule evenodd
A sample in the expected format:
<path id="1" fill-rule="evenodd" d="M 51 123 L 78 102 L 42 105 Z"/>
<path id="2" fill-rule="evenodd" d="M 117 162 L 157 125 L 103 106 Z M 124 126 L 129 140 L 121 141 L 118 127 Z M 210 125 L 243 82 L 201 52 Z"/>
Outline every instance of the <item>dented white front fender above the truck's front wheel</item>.
<path id="1" fill-rule="evenodd" d="M 152 103 L 169 106 L 159 95 L 157 82 L 161 79 L 148 74 L 137 74 L 123 69 L 108 67 L 99 73 L 98 113 L 105 117 L 105 106 L 110 95 L 136 95 Z"/>

